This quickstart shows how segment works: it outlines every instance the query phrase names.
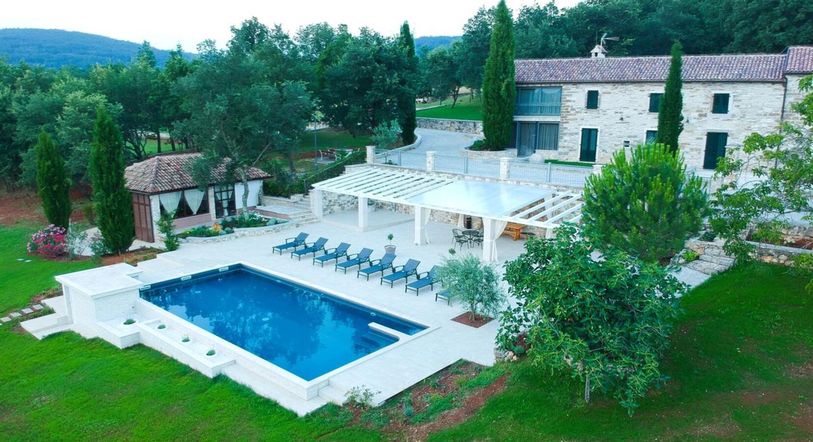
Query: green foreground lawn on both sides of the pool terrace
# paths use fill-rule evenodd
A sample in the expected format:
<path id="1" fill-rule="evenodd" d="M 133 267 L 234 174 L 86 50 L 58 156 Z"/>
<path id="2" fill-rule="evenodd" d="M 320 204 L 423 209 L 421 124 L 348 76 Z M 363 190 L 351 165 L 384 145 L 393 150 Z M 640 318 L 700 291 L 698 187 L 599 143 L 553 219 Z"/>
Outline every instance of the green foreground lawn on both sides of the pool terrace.
<path id="1" fill-rule="evenodd" d="M 24 257 L 32 228 L 0 227 L 0 299 L 26 300 L 53 275 L 90 262 Z M 27 266 L 27 267 L 26 267 Z M 712 278 L 682 301 L 663 367 L 665 388 L 633 418 L 615 401 L 528 362 L 508 365 L 506 391 L 432 440 L 804 440 L 813 413 L 813 296 L 784 267 L 750 266 Z M 115 349 L 62 333 L 37 341 L 0 327 L 3 440 L 380 440 L 330 406 L 297 418 L 228 379 L 207 379 L 141 345 Z M 6 363 L 13 362 L 13 363 Z M 800 418 L 803 417 L 803 418 Z M 806 419 L 806 420 L 805 420 Z"/>

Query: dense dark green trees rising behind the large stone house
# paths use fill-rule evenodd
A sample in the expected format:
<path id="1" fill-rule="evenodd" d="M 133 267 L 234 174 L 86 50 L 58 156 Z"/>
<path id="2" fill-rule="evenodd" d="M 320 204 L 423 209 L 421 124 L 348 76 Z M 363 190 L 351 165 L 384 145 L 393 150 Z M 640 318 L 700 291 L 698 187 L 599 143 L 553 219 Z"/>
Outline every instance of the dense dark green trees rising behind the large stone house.
<path id="1" fill-rule="evenodd" d="M 479 93 L 498 6 L 481 7 L 463 36 L 420 48 L 420 95 L 456 102 L 465 87 Z M 781 52 L 813 44 L 813 3 L 804 0 L 586 0 L 554 2 L 511 14 L 516 58 L 585 57 L 607 32 L 620 37 L 609 55 L 665 55 L 674 41 L 686 54 Z"/>

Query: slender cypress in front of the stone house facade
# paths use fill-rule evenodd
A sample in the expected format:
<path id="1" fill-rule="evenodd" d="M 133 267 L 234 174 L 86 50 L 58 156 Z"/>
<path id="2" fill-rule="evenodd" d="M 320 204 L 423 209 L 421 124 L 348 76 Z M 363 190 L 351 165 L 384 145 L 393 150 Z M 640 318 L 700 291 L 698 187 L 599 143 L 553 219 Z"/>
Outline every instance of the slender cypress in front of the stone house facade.
<path id="1" fill-rule="evenodd" d="M 658 140 L 667 145 L 672 152 L 679 149 L 678 138 L 683 132 L 683 80 L 680 78 L 683 71 L 683 45 L 675 41 L 672 45 L 672 62 L 669 64 L 669 75 L 666 77 L 666 87 L 663 89 L 658 108 Z"/>

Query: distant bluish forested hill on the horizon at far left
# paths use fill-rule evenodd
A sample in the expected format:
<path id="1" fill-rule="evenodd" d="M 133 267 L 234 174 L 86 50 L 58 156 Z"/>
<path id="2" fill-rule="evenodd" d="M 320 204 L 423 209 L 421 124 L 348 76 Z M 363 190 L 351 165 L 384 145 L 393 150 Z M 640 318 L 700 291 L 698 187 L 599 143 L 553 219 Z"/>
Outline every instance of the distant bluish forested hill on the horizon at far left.
<path id="1" fill-rule="evenodd" d="M 6 57 L 9 63 L 18 63 L 20 59 L 47 67 L 129 63 L 139 46 L 132 41 L 62 29 L 0 29 L 0 57 Z M 154 52 L 159 65 L 163 66 L 169 51 L 154 49 Z M 193 57 L 193 54 L 185 55 L 189 59 Z"/>

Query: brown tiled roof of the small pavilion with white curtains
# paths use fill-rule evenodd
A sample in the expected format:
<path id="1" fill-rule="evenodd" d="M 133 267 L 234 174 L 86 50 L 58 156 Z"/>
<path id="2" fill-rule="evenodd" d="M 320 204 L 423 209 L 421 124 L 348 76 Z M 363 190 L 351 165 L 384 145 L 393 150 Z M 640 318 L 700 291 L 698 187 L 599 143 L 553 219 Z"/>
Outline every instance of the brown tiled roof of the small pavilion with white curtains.
<path id="1" fill-rule="evenodd" d="M 155 155 L 141 163 L 134 163 L 124 170 L 127 189 L 141 193 L 163 193 L 198 187 L 192 180 L 189 167 L 200 156 L 201 154 Z M 214 171 L 215 177 L 222 177 L 224 171 L 225 166 L 220 165 Z M 256 167 L 249 174 L 250 180 L 264 180 L 269 177 Z"/>

